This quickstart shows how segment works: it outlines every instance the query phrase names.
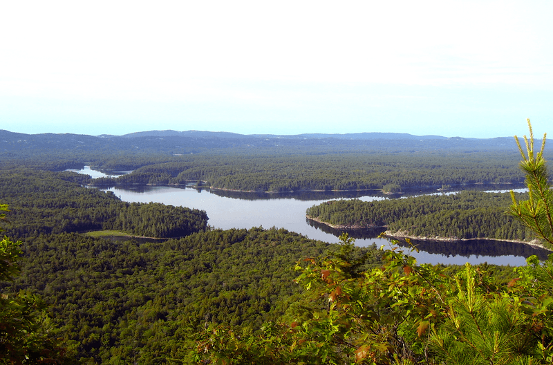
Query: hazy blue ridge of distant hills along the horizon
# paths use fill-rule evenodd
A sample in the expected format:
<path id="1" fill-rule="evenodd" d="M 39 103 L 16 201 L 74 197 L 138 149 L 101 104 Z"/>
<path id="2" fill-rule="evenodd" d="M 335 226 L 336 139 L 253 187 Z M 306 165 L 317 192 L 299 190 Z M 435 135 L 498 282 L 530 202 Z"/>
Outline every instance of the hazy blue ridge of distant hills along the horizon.
<path id="1" fill-rule="evenodd" d="M 308 153 L 321 146 L 348 146 L 359 151 L 470 151 L 512 150 L 512 137 L 460 138 L 409 133 L 302 133 L 297 135 L 238 134 L 211 131 L 142 131 L 125 135 L 79 135 L 72 133 L 14 133 L 0 129 L 0 153 L 46 149 L 73 151 L 126 150 L 170 154 L 198 153 L 209 149 L 269 147 L 299 148 Z"/>

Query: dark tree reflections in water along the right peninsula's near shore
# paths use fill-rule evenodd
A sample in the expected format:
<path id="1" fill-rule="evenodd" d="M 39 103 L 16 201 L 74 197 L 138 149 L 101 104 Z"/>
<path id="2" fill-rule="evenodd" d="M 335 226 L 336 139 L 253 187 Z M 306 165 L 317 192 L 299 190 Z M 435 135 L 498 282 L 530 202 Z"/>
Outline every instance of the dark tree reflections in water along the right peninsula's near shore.
<path id="1" fill-rule="evenodd" d="M 363 230 L 338 230 L 328 225 L 312 221 L 306 218 L 306 222 L 311 227 L 315 227 L 322 232 L 339 236 L 347 232 L 350 236 L 357 239 L 377 238 L 384 230 L 383 227 L 363 229 Z M 444 256 L 523 256 L 529 257 L 532 255 L 538 256 L 540 260 L 546 260 L 551 253 L 543 248 L 534 247 L 525 243 L 516 243 L 508 241 L 495 240 L 470 240 L 470 241 L 423 241 L 411 240 L 411 243 L 416 247 L 429 254 L 441 254 Z M 399 245 L 408 247 L 409 245 L 403 241 L 399 241 Z"/>

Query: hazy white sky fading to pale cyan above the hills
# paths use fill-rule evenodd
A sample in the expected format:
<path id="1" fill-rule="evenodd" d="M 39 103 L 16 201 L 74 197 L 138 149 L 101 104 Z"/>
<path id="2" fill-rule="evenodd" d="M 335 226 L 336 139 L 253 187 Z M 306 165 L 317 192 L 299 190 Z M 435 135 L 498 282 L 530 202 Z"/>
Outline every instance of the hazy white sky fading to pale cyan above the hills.
<path id="1" fill-rule="evenodd" d="M 553 133 L 553 1 L 5 1 L 0 129 Z"/>

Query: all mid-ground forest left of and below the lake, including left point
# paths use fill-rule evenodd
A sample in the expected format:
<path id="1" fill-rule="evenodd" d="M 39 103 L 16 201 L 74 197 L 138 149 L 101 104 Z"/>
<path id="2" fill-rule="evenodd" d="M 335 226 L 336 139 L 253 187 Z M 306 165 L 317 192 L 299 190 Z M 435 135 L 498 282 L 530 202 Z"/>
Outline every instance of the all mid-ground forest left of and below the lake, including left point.
<path id="1" fill-rule="evenodd" d="M 5 233 L 21 239 L 24 256 L 21 276 L 2 292 L 32 290 L 50 303 L 50 323 L 75 362 L 187 363 L 205 326 L 256 330 L 283 315 L 299 294 L 294 263 L 328 249 L 286 230 L 209 230 L 205 212 L 124 203 L 83 187 L 86 176 L 74 173 L 1 172 Z M 104 229 L 185 237 L 140 243 L 79 234 Z M 359 252 L 377 262 L 375 247 Z"/>

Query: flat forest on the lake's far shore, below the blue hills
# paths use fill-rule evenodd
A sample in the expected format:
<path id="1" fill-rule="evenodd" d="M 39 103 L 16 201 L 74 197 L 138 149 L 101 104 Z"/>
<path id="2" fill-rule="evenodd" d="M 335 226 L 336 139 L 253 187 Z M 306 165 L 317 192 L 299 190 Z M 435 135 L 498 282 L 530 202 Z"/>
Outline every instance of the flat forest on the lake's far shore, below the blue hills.
<path id="1" fill-rule="evenodd" d="M 328 153 L 321 155 L 204 153 L 152 164 L 93 185 L 185 185 L 239 191 L 330 191 L 521 183 L 516 154 Z"/>

